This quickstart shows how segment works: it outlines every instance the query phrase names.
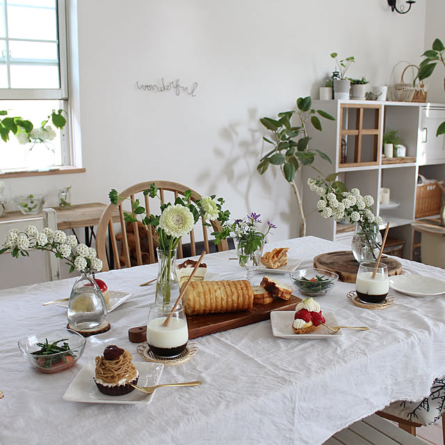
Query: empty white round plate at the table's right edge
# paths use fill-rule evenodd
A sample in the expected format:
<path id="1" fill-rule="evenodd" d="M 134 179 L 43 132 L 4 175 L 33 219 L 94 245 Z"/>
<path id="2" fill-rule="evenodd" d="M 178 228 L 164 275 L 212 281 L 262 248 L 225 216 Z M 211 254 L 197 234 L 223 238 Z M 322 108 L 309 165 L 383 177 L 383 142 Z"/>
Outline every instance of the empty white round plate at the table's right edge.
<path id="1" fill-rule="evenodd" d="M 389 285 L 395 291 L 413 297 L 428 297 L 445 293 L 445 282 L 422 275 L 394 275 L 389 277 Z"/>

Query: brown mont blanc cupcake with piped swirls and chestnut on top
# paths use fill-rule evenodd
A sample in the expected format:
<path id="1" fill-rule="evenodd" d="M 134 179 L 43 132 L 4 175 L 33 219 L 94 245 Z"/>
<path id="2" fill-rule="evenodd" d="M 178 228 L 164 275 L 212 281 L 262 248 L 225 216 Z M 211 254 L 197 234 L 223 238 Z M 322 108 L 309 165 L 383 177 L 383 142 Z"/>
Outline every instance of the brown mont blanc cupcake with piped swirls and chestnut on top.
<path id="1" fill-rule="evenodd" d="M 133 391 L 139 373 L 131 360 L 133 356 L 118 346 L 107 346 L 103 357 L 96 357 L 96 386 L 107 396 L 122 396 Z"/>

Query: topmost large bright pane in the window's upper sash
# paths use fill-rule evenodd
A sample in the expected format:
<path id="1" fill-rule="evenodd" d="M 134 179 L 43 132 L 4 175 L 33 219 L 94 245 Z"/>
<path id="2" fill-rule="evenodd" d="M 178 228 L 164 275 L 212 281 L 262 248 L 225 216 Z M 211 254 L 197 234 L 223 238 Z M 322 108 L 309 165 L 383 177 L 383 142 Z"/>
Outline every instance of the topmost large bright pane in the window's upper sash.
<path id="1" fill-rule="evenodd" d="M 57 40 L 56 24 L 56 0 L 8 3 L 10 38 Z"/>

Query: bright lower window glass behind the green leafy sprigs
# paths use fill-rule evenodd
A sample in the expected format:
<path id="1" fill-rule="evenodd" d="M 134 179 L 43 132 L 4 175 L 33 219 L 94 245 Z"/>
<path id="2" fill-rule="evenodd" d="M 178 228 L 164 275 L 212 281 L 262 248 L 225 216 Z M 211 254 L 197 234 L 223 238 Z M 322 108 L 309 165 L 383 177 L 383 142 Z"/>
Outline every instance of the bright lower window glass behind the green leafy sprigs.
<path id="1" fill-rule="evenodd" d="M 0 101 L 0 109 L 7 110 L 8 117 L 22 116 L 24 119 L 31 120 L 34 127 L 40 127 L 42 120 L 46 120 L 53 109 L 58 110 L 61 106 L 63 104 L 60 104 L 58 100 Z M 9 133 L 9 138 L 7 143 L 0 140 L 0 170 L 28 168 L 28 164 L 33 161 L 32 154 L 29 155 L 32 144 L 20 145 L 13 133 Z M 60 131 L 57 130 L 56 138 L 46 144 L 49 147 L 48 154 L 51 151 L 51 156 L 54 149 L 54 165 L 62 165 Z"/>

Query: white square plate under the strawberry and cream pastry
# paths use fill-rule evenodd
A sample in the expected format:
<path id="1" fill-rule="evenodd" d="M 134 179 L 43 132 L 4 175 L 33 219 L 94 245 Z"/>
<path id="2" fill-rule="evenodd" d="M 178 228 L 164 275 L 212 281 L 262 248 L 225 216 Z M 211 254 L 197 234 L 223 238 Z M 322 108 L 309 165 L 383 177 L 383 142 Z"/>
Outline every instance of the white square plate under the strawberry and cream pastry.
<path id="1" fill-rule="evenodd" d="M 292 330 L 293 316 L 295 311 L 272 311 L 270 312 L 270 322 L 272 323 L 272 333 L 275 337 L 293 340 L 307 339 L 334 339 L 343 336 L 341 330 L 332 332 L 327 327 L 320 325 L 310 334 L 295 334 Z M 328 326 L 338 326 L 339 322 L 333 312 L 323 312 Z"/>

